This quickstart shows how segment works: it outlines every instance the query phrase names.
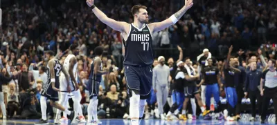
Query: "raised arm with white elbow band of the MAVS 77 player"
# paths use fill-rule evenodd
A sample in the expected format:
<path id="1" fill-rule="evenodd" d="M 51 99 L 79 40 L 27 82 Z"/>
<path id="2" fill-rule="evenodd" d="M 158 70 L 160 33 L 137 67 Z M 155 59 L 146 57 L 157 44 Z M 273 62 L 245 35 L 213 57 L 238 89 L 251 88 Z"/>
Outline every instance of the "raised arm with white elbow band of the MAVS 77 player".
<path id="1" fill-rule="evenodd" d="M 159 32 L 165 28 L 168 28 L 169 26 L 175 24 L 183 15 L 186 13 L 188 9 L 190 9 L 193 6 L 193 0 L 185 0 L 185 6 L 181 8 L 178 12 L 176 12 L 174 15 L 172 15 L 170 18 L 161 21 L 159 23 L 150 23 L 149 27 L 152 32 Z"/>

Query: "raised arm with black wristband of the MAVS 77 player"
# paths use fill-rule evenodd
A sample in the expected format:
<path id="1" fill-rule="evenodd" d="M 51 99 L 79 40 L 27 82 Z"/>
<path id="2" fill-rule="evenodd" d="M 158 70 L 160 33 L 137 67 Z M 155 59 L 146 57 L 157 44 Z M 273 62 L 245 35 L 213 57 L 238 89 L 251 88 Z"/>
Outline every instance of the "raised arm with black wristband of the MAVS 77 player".
<path id="1" fill-rule="evenodd" d="M 119 32 L 125 32 L 127 28 L 129 28 L 129 24 L 123 21 L 116 21 L 114 19 L 111 19 L 105 15 L 104 12 L 99 10 L 94 4 L 94 0 L 87 0 L 87 5 L 89 7 L 92 7 L 93 13 L 96 15 L 96 17 L 102 21 L 102 23 L 105 23 L 107 26 L 111 27 L 114 30 L 117 30 Z"/>

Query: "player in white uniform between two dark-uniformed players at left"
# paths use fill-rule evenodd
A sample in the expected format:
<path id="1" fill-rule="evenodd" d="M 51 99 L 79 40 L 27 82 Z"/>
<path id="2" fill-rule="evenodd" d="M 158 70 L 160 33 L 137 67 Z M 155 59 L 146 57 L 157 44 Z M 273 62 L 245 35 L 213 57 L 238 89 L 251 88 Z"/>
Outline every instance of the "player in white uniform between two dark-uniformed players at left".
<path id="1" fill-rule="evenodd" d="M 73 119 L 71 124 L 78 124 L 78 122 L 85 123 L 86 120 L 84 119 L 84 115 L 82 115 L 82 107 L 81 107 L 81 99 L 82 95 L 79 90 L 79 86 L 77 83 L 77 57 L 76 55 L 79 55 L 78 45 L 73 44 L 70 46 L 70 50 L 72 54 L 67 55 L 66 59 L 64 59 L 64 69 L 69 73 L 70 80 L 69 83 L 66 81 L 66 77 L 64 73 L 61 73 L 60 75 L 60 100 L 59 104 L 66 107 L 69 102 L 69 93 L 72 93 L 73 95 L 73 108 L 75 111 L 75 117 L 78 118 L 78 120 Z M 57 110 L 57 114 L 55 117 L 55 124 L 60 124 L 60 113 L 61 110 Z M 64 122 L 67 120 L 66 113 L 63 113 L 64 116 L 61 119 L 61 122 Z"/>

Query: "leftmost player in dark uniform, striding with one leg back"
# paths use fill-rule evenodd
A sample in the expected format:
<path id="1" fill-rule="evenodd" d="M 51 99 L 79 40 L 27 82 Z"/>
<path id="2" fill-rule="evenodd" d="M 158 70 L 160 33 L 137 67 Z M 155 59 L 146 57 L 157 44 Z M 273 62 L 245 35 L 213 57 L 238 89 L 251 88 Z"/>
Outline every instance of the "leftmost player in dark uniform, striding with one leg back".
<path id="1" fill-rule="evenodd" d="M 42 90 L 42 97 L 40 97 L 40 104 L 41 104 L 41 110 L 42 110 L 42 119 L 40 119 L 39 122 L 35 124 L 48 124 L 47 118 L 46 118 L 46 99 L 50 100 L 50 105 L 62 110 L 66 113 L 66 115 L 69 115 L 69 119 L 72 122 L 72 119 L 74 118 L 74 112 L 71 112 L 64 108 L 64 106 L 57 104 L 57 100 L 59 99 L 58 97 L 58 92 L 60 92 L 60 82 L 59 82 L 59 76 L 60 76 L 60 71 L 64 73 L 66 77 L 67 83 L 69 83 L 69 75 L 66 72 L 66 70 L 63 68 L 62 64 L 60 64 L 60 61 L 55 59 L 55 52 L 52 50 L 48 50 L 45 52 L 46 58 L 49 60 L 47 64 L 47 82 L 44 85 L 44 88 Z"/>

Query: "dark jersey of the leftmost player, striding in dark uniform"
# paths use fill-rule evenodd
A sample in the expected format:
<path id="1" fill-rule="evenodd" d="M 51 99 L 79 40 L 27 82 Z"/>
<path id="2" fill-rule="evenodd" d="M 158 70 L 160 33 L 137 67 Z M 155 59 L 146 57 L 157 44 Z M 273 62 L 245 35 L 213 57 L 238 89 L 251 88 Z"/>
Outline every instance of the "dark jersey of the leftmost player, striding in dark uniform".
<path id="1" fill-rule="evenodd" d="M 55 70 L 55 88 L 60 88 L 60 81 L 59 81 L 59 76 L 60 76 L 60 71 L 62 70 L 62 65 L 60 64 L 60 61 L 57 59 L 54 59 L 55 61 L 55 66 L 54 66 L 54 70 Z M 50 73 L 50 68 L 47 64 L 47 82 L 46 82 L 46 86 L 47 88 L 52 88 L 51 86 L 51 73 Z"/>

